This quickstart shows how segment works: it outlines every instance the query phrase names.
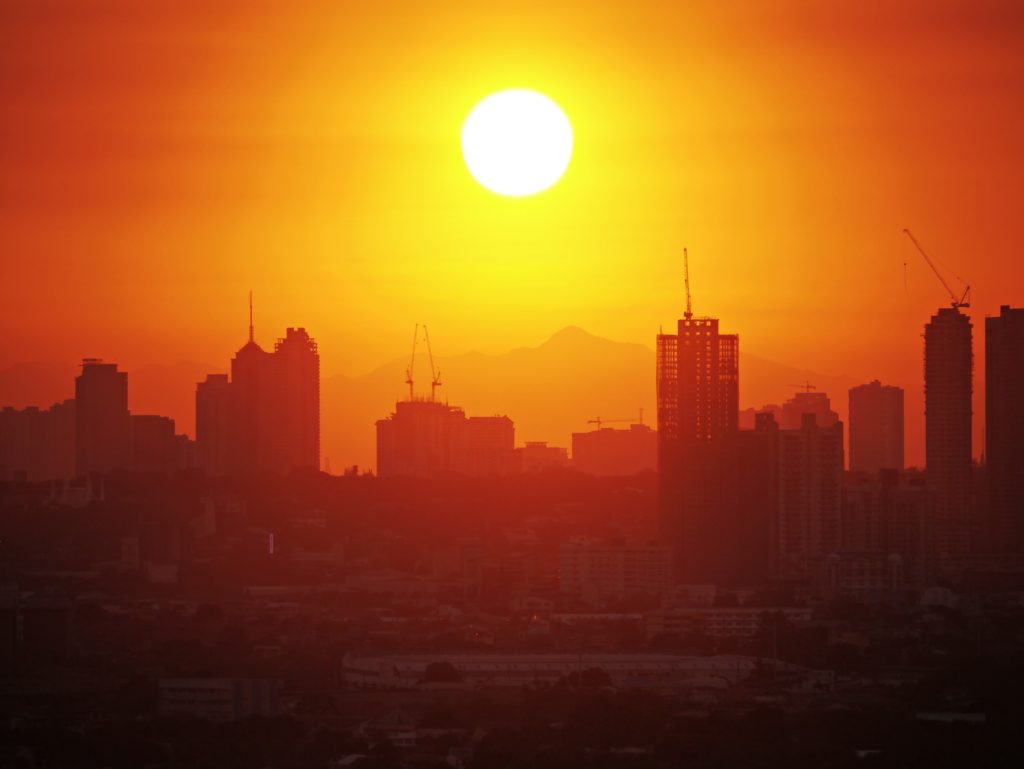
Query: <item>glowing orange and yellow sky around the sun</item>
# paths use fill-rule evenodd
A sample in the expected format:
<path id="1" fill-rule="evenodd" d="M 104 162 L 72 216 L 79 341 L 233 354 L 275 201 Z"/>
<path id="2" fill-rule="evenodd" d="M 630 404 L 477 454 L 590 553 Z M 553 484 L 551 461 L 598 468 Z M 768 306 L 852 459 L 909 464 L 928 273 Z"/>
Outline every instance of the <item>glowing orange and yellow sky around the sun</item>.
<path id="1" fill-rule="evenodd" d="M 249 288 L 262 340 L 307 327 L 325 374 L 407 354 L 417 322 L 449 353 L 569 324 L 652 345 L 685 245 L 697 312 L 906 387 L 912 431 L 945 297 L 909 226 L 974 287 L 981 373 L 981 318 L 1024 304 L 1024 6 L 487 5 L 0 5 L 0 365 L 226 369 Z M 515 86 L 575 131 L 522 200 L 459 149 Z"/>

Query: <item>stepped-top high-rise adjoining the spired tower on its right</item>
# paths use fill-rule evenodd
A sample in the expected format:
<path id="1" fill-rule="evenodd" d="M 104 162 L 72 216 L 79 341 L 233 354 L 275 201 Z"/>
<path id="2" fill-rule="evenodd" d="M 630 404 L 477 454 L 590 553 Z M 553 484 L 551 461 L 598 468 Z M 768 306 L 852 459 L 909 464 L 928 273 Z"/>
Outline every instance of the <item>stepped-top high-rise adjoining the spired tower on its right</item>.
<path id="1" fill-rule="evenodd" d="M 273 348 L 273 465 L 319 470 L 319 353 L 305 329 L 288 329 Z"/>

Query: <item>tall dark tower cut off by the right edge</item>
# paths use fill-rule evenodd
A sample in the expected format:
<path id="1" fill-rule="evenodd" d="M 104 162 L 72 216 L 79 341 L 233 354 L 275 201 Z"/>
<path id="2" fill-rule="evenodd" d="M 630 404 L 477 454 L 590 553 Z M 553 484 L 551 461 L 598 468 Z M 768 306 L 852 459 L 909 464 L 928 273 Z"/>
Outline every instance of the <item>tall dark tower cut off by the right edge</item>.
<path id="1" fill-rule="evenodd" d="M 1024 308 L 985 318 L 988 544 L 1024 552 Z"/>

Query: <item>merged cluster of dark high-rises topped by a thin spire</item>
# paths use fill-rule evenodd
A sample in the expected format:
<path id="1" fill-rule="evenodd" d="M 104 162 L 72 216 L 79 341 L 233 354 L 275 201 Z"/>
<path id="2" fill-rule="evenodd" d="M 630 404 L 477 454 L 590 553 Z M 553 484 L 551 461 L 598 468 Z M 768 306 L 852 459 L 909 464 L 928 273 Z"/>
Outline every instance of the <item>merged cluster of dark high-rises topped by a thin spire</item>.
<path id="1" fill-rule="evenodd" d="M 319 469 L 319 352 L 305 329 L 288 329 L 273 352 L 249 339 L 230 380 L 210 374 L 196 387 L 196 436 L 207 473 L 245 475 Z"/>

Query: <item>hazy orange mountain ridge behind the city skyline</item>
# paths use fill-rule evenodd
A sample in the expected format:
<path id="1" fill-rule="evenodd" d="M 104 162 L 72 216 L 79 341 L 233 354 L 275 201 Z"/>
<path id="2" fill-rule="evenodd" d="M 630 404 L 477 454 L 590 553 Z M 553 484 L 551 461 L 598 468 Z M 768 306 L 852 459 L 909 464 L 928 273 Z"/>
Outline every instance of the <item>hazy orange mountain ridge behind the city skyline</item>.
<path id="1" fill-rule="evenodd" d="M 516 442 L 547 440 L 570 445 L 573 432 L 594 428 L 589 420 L 636 421 L 643 410 L 647 424 L 656 422 L 654 350 L 635 342 L 615 342 L 577 326 L 568 326 L 536 347 L 516 347 L 487 354 L 469 351 L 437 356 L 441 372 L 438 397 L 469 415 L 508 415 Z M 396 400 L 408 396 L 408 358 L 390 360 L 359 376 L 335 375 L 321 382 L 322 457 L 333 472 L 345 466 L 376 464 L 377 420 L 387 417 Z M 847 390 L 861 381 L 828 376 L 740 352 L 740 405 L 780 403 L 801 382 L 810 380 L 831 397 L 846 420 Z M 129 371 L 133 412 L 163 414 L 179 432 L 194 434 L 196 383 L 225 367 L 198 362 L 156 364 Z M 0 370 L 0 405 L 48 407 L 73 397 L 77 366 L 16 364 Z M 429 392 L 429 366 L 418 359 L 417 394 Z M 35 395 L 35 396 L 34 396 Z"/>

